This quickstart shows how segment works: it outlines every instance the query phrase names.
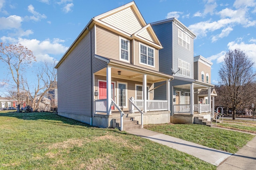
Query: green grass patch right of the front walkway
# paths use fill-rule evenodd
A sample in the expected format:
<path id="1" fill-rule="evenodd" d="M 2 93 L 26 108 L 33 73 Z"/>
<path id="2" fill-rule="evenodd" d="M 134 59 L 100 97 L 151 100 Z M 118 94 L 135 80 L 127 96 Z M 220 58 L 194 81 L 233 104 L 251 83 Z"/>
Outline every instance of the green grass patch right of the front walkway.
<path id="1" fill-rule="evenodd" d="M 168 123 L 145 125 L 144 128 L 230 153 L 236 153 L 254 137 L 250 134 L 197 124 Z"/>

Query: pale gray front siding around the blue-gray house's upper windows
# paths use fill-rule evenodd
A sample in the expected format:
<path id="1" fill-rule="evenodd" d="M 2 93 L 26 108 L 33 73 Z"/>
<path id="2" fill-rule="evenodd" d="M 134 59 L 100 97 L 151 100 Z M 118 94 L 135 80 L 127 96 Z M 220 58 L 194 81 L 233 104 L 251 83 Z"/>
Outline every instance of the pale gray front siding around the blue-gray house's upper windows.
<path id="1" fill-rule="evenodd" d="M 194 78 L 194 39 L 190 37 L 190 50 L 178 44 L 178 27 L 173 25 L 173 69 L 178 70 L 178 59 L 190 64 L 190 77 L 183 76 L 179 72 L 175 76 Z"/>

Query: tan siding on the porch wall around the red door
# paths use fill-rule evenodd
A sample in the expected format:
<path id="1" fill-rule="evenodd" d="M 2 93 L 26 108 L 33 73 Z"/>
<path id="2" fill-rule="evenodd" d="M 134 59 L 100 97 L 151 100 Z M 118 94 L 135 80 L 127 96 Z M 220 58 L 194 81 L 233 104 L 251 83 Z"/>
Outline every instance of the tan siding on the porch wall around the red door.
<path id="1" fill-rule="evenodd" d="M 95 90 L 98 90 L 98 80 L 104 80 L 106 81 L 106 77 L 104 76 L 98 76 L 98 75 L 95 75 L 95 80 L 94 80 L 94 84 L 95 84 L 95 87 L 94 89 Z M 127 104 L 129 106 L 129 102 L 128 102 L 128 98 L 131 98 L 131 97 L 134 97 L 135 98 L 135 84 L 141 84 L 142 85 L 142 82 L 137 82 L 137 81 L 131 81 L 131 80 L 124 80 L 124 79 L 118 79 L 118 78 L 112 78 L 111 82 L 115 82 L 115 90 L 114 90 L 114 93 L 115 93 L 115 102 L 118 104 L 117 102 L 117 82 L 125 82 L 127 83 L 127 86 L 128 86 L 128 91 L 127 91 Z M 150 83 L 147 83 L 147 86 L 150 87 L 150 90 L 153 89 L 153 84 L 150 84 Z M 153 100 L 153 93 L 150 93 L 150 100 Z M 95 96 L 95 99 L 98 99 L 97 96 Z M 128 108 L 124 108 L 124 110 L 128 110 Z"/>

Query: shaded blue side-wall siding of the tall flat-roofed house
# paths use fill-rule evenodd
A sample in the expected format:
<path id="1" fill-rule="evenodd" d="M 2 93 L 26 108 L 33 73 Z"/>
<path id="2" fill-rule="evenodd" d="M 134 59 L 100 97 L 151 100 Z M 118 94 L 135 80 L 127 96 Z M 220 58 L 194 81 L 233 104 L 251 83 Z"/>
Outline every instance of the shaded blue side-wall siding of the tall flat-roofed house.
<path id="1" fill-rule="evenodd" d="M 152 25 L 163 49 L 159 50 L 159 71 L 172 74 L 172 22 Z"/>

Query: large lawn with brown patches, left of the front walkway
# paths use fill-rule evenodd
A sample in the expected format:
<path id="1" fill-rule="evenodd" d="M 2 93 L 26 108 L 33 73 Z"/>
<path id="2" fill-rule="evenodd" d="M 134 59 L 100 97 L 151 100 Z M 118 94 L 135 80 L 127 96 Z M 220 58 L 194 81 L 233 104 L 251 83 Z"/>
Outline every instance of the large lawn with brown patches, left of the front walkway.
<path id="1" fill-rule="evenodd" d="M 54 113 L 0 111 L 0 169 L 216 169 L 170 147 Z"/>

